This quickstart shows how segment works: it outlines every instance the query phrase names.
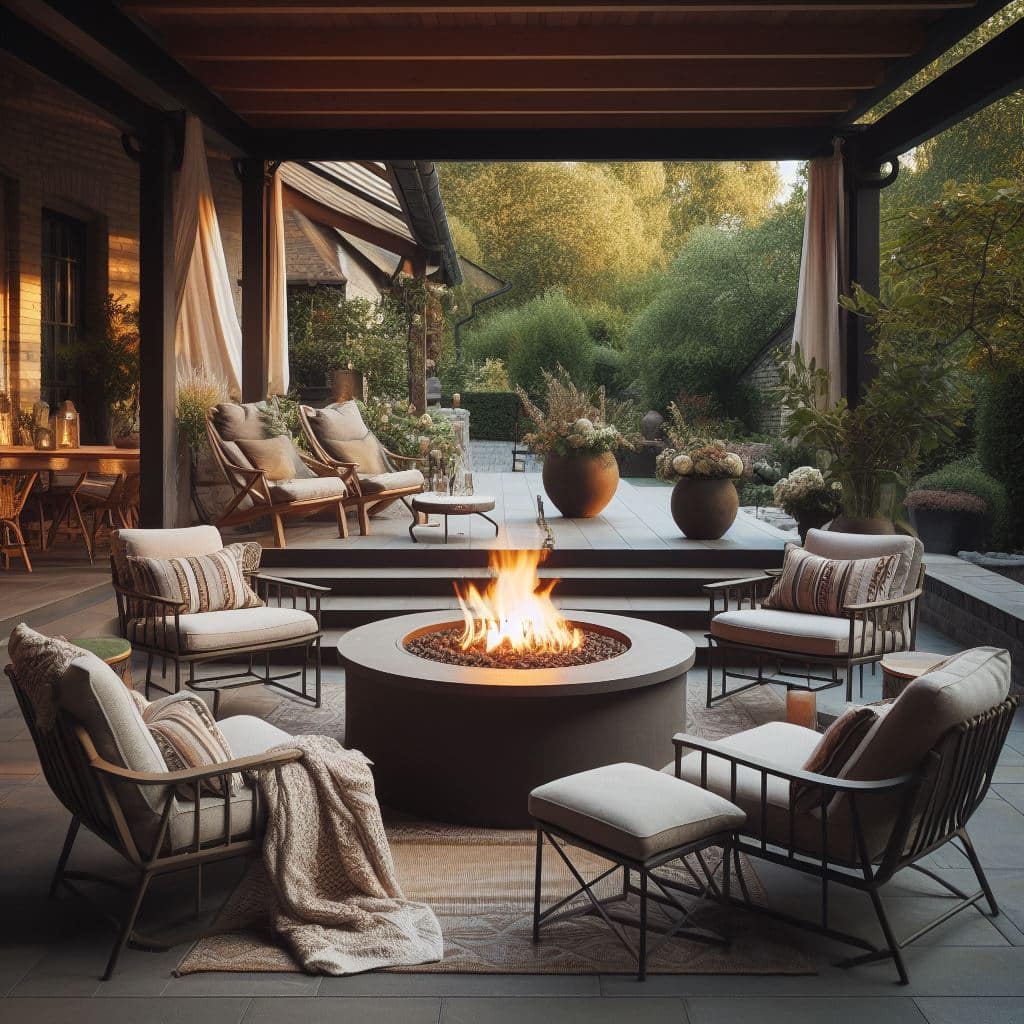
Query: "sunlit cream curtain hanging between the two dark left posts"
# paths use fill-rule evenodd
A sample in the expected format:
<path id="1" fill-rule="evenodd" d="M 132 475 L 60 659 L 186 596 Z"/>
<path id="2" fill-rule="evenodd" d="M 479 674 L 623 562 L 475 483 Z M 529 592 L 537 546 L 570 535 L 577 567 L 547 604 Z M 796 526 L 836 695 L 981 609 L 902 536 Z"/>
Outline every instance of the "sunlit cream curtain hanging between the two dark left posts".
<path id="1" fill-rule="evenodd" d="M 174 284 L 178 375 L 202 369 L 242 393 L 242 329 L 224 259 L 206 162 L 203 125 L 185 122 L 184 154 L 174 193 Z"/>

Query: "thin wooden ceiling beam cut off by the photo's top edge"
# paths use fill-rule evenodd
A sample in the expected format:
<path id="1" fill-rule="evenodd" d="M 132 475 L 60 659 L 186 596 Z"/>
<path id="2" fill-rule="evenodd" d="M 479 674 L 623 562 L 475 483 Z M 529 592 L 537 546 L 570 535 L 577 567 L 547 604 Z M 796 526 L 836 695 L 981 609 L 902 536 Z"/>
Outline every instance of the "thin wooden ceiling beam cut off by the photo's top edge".
<path id="1" fill-rule="evenodd" d="M 663 0 L 660 3 L 624 3 L 623 0 L 552 0 L 549 3 L 488 2 L 488 0 L 379 0 L 379 2 L 338 2 L 306 0 L 127 0 L 126 10 L 140 14 L 662 14 L 662 13 L 856 13 L 859 11 L 955 10 L 970 7 L 975 0 Z"/>

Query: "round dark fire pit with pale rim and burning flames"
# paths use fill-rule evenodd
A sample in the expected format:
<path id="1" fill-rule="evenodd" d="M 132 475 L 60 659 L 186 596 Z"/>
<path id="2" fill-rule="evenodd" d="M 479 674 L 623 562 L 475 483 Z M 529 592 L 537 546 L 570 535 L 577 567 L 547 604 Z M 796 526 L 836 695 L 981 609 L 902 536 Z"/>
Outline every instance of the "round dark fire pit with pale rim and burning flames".
<path id="1" fill-rule="evenodd" d="M 693 644 L 655 623 L 572 611 L 537 580 L 537 552 L 498 552 L 462 617 L 428 612 L 354 629 L 345 742 L 374 762 L 381 802 L 461 824 L 529 824 L 526 796 L 602 764 L 660 768 L 685 727 Z"/>

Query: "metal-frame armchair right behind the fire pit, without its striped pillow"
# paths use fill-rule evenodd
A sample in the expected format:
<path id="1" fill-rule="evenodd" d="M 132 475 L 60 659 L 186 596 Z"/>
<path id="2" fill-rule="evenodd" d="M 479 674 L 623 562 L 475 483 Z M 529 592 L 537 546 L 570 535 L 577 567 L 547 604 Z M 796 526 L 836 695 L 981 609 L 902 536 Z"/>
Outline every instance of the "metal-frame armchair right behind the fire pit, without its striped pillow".
<path id="1" fill-rule="evenodd" d="M 900 550 L 902 548 L 902 551 Z M 842 618 L 805 612 L 763 609 L 762 602 L 774 585 L 778 570 L 744 580 L 723 580 L 706 584 L 711 629 L 707 635 L 709 708 L 719 700 L 765 683 L 777 682 L 788 689 L 821 690 L 846 683 L 846 699 L 853 699 L 853 670 L 860 670 L 863 694 L 864 666 L 879 663 L 897 650 L 913 650 L 918 642 L 918 616 L 925 583 L 923 548 L 914 538 L 868 537 L 852 534 L 828 534 L 810 530 L 806 550 L 826 558 L 864 558 L 873 554 L 899 554 L 905 559 L 900 593 L 885 601 L 848 604 Z M 741 612 L 742 614 L 736 614 Z M 722 617 L 724 616 L 724 617 Z M 816 622 L 815 622 L 816 621 Z M 777 623 L 779 628 L 769 628 Z M 799 627 L 812 627 L 809 634 Z M 821 636 L 815 636 L 816 627 Z M 763 628 L 762 628 L 763 627 Z M 715 691 L 716 662 L 721 688 Z M 732 665 L 756 665 L 756 673 L 730 669 Z M 765 665 L 774 665 L 782 676 L 783 666 L 799 666 L 803 681 L 796 674 L 776 678 L 766 675 Z M 815 675 L 812 668 L 823 667 L 828 675 Z M 729 679 L 744 682 L 729 688 Z"/>

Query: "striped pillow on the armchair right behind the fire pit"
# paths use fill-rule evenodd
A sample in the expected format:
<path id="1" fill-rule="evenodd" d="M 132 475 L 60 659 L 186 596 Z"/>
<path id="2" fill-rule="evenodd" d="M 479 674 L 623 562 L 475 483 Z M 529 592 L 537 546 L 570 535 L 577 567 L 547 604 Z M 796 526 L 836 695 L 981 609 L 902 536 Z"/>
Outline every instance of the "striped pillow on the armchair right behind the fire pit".
<path id="1" fill-rule="evenodd" d="M 898 555 L 822 558 L 790 547 L 782 572 L 761 606 L 839 616 L 848 604 L 887 600 L 898 564 Z"/>

